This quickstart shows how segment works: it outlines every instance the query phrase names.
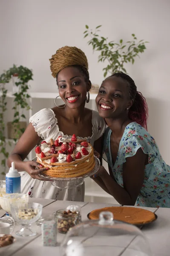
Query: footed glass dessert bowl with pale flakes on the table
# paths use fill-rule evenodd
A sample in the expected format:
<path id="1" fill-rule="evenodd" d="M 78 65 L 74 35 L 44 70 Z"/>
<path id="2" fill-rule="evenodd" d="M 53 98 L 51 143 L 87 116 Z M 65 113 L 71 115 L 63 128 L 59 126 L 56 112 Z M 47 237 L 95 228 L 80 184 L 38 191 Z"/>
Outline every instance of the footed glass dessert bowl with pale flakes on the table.
<path id="1" fill-rule="evenodd" d="M 21 224 L 21 229 L 16 232 L 18 236 L 35 236 L 31 224 L 37 221 L 42 214 L 43 206 L 37 203 L 16 202 L 11 205 L 14 220 Z"/>

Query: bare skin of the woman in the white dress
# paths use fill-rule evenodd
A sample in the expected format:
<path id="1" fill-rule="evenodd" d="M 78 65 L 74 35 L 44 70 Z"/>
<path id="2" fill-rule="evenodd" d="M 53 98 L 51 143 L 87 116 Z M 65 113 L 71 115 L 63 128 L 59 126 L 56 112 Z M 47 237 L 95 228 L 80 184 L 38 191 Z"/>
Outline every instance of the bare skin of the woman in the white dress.
<path id="1" fill-rule="evenodd" d="M 86 94 L 91 88 L 91 82 L 86 81 L 84 74 L 77 67 L 66 67 L 58 73 L 57 83 L 59 94 L 66 103 L 64 108 L 52 108 L 55 117 L 58 119 L 59 130 L 63 134 L 68 135 L 76 134 L 79 137 L 92 136 L 92 111 L 84 108 Z M 75 102 L 70 103 L 70 96 L 78 98 Z M 10 154 L 7 160 L 8 166 L 10 167 L 11 163 L 14 162 L 19 172 L 25 171 L 34 179 L 46 180 L 38 176 L 39 173 L 46 170 L 44 168 L 40 169 L 42 166 L 39 163 L 35 161 L 23 162 L 29 152 L 41 140 L 32 123 L 30 123 Z M 102 138 L 95 141 L 94 148 L 97 149 L 98 157 L 100 157 Z"/>

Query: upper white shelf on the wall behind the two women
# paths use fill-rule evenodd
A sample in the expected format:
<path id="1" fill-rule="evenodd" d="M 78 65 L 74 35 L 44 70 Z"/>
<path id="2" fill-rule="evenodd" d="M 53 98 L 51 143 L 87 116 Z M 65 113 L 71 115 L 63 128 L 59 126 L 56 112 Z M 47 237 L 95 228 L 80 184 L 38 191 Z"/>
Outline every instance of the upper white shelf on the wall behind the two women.
<path id="1" fill-rule="evenodd" d="M 58 93 L 31 93 L 28 92 L 32 99 L 55 99 L 55 97 L 59 96 Z M 0 93 L 0 96 L 2 93 Z M 90 93 L 90 99 L 94 100 L 96 98 L 96 93 Z M 14 98 L 14 95 L 12 92 L 7 93 L 7 97 Z"/>

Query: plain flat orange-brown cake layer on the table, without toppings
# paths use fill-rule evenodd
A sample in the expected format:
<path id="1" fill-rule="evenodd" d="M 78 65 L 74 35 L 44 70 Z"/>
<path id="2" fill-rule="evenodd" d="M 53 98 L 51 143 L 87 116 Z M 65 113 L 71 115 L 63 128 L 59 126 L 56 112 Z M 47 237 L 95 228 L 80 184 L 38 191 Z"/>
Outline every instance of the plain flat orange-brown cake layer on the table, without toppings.
<path id="1" fill-rule="evenodd" d="M 106 207 L 93 210 L 89 213 L 89 219 L 96 220 L 101 212 L 109 211 L 113 213 L 114 220 L 124 221 L 134 225 L 142 225 L 154 221 L 156 215 L 145 209 L 135 207 Z"/>

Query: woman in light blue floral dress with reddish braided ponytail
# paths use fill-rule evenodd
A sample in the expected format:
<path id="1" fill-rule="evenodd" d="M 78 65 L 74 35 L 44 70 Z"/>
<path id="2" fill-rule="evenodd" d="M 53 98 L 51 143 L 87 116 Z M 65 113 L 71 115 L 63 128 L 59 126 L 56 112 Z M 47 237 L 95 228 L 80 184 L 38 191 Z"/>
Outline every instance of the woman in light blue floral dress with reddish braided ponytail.
<path id="1" fill-rule="evenodd" d="M 170 166 L 146 130 L 147 103 L 133 79 L 124 73 L 105 79 L 96 104 L 108 125 L 103 157 L 109 174 L 101 166 L 94 180 L 121 205 L 170 207 Z"/>

